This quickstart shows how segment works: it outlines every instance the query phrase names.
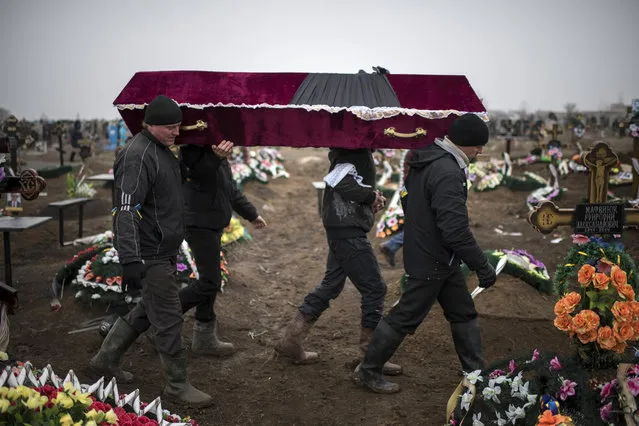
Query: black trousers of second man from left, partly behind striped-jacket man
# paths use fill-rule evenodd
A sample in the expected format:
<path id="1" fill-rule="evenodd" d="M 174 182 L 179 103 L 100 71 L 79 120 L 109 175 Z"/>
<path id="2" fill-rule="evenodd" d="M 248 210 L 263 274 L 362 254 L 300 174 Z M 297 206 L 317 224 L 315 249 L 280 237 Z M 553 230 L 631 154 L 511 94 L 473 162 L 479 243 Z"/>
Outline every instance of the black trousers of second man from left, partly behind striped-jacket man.
<path id="1" fill-rule="evenodd" d="M 195 319 L 201 322 L 215 320 L 214 303 L 222 287 L 220 250 L 222 231 L 204 228 L 186 228 L 186 242 L 191 247 L 200 278 L 180 290 L 182 312 L 195 307 Z"/>

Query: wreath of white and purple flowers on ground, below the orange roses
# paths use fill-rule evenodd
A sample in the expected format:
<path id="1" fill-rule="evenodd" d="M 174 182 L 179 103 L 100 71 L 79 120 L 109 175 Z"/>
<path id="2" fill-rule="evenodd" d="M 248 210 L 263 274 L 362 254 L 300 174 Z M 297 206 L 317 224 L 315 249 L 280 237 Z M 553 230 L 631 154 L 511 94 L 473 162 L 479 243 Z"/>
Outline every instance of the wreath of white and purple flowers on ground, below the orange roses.
<path id="1" fill-rule="evenodd" d="M 449 425 L 587 425 L 599 417 L 599 389 L 571 359 L 506 359 L 465 374 L 447 406 Z"/>

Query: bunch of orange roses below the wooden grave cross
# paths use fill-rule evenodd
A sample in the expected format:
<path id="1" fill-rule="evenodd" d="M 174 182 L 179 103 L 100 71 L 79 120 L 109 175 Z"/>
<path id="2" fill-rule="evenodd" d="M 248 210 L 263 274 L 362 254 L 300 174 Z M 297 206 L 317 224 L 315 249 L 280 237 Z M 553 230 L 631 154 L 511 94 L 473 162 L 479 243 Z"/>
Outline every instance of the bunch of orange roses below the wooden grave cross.
<path id="1" fill-rule="evenodd" d="M 579 269 L 581 291 L 557 301 L 554 324 L 568 333 L 584 362 L 602 368 L 618 362 L 614 354 L 639 340 L 639 302 L 626 271 L 605 258 L 597 266 Z"/>

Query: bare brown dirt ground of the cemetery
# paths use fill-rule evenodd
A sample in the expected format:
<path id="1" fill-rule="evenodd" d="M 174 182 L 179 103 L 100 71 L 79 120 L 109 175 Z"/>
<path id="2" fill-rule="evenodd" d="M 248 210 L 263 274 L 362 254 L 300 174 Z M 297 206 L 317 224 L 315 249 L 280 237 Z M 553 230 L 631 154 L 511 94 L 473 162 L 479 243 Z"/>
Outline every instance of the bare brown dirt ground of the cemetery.
<path id="1" fill-rule="evenodd" d="M 619 153 L 632 149 L 630 139 L 610 139 Z M 504 142 L 494 142 L 488 150 L 499 156 Z M 591 141 L 583 142 L 584 148 Z M 532 142 L 516 143 L 513 157 L 524 154 Z M 317 212 L 317 196 L 311 182 L 321 180 L 328 162 L 326 150 L 283 148 L 289 179 L 276 179 L 268 184 L 251 182 L 245 194 L 258 207 L 268 227 L 256 231 L 249 226 L 252 241 L 238 243 L 228 250 L 231 280 L 218 297 L 216 310 L 220 334 L 235 343 L 237 352 L 226 359 L 190 356 L 192 382 L 212 394 L 216 405 L 205 410 L 187 412 L 183 407 L 166 404 L 172 412 L 191 415 L 200 425 L 441 425 L 445 419 L 448 398 L 459 383 L 459 362 L 450 331 L 442 311 L 435 305 L 431 314 L 414 336 L 408 336 L 393 360 L 404 367 L 404 375 L 395 380 L 402 391 L 395 395 L 377 395 L 356 387 L 351 372 L 357 363 L 360 324 L 359 294 L 347 283 L 343 294 L 331 303 L 329 310 L 311 330 L 305 345 L 318 351 L 321 361 L 309 366 L 294 366 L 273 357 L 273 341 L 295 315 L 303 297 L 322 279 L 327 244 Z M 569 154 L 568 150 L 565 154 Z M 571 154 L 571 153 L 570 153 Z M 49 158 L 50 157 L 50 158 Z M 29 157 L 25 157 L 27 162 Z M 48 159 L 55 165 L 57 153 L 49 152 L 37 161 Z M 34 159 L 35 161 L 35 159 Z M 112 167 L 113 153 L 99 154 L 92 165 L 94 173 L 105 173 Z M 514 175 L 530 170 L 549 176 L 544 165 L 516 167 Z M 97 234 L 111 227 L 111 192 L 96 183 L 95 200 L 85 207 L 85 235 Z M 573 207 L 586 195 L 585 174 L 571 174 L 561 179 L 568 189 L 560 207 Z M 611 187 L 619 196 L 630 193 L 630 187 Z M 49 286 L 57 270 L 78 247 L 58 247 L 58 224 L 55 212 L 47 204 L 67 198 L 64 176 L 47 180 L 46 196 L 24 203 L 23 215 L 52 215 L 44 226 L 12 235 L 14 283 L 21 306 L 10 317 L 12 358 L 31 361 L 35 367 L 51 364 L 58 375 L 73 369 L 80 379 L 84 368 L 102 341 L 97 331 L 68 334 L 80 323 L 104 315 L 104 308 L 92 309 L 74 301 L 68 286 L 62 309 L 53 312 L 49 306 Z M 484 249 L 524 249 L 544 262 L 551 276 L 572 245 L 569 228 L 544 236 L 526 222 L 528 192 L 515 192 L 505 187 L 495 191 L 469 192 L 472 230 Z M 67 239 L 77 230 L 73 209 L 66 213 Z M 495 232 L 521 232 L 521 236 L 505 236 Z M 564 237 L 556 244 L 553 238 Z M 381 242 L 371 232 L 370 240 L 377 250 Z M 630 255 L 639 255 L 639 231 L 628 230 L 623 236 Z M 379 252 L 378 252 L 379 253 Z M 378 256 L 388 284 L 386 310 L 399 294 L 401 267 L 389 268 Z M 401 251 L 398 265 L 401 265 Z M 477 285 L 469 278 L 469 290 Z M 531 354 L 535 348 L 560 354 L 571 351 L 565 333 L 556 330 L 554 296 L 538 293 L 531 286 L 507 275 L 478 296 L 477 309 L 484 355 L 487 363 Z M 191 336 L 192 318 L 184 325 L 185 341 Z M 123 360 L 123 367 L 135 374 L 124 391 L 139 388 L 143 401 L 150 402 L 161 394 L 163 386 L 159 359 L 145 339 L 140 338 Z"/>

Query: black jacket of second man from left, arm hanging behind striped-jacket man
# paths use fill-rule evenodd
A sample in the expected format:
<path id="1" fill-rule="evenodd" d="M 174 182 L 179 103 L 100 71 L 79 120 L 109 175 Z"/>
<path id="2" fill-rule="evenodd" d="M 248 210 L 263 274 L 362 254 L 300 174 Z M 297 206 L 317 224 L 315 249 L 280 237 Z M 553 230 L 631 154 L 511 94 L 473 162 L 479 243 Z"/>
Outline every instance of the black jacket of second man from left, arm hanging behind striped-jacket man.
<path id="1" fill-rule="evenodd" d="M 228 160 L 218 157 L 210 146 L 185 145 L 182 162 L 187 169 L 186 226 L 222 231 L 233 210 L 249 222 L 257 219 L 257 209 L 237 187 Z"/>

